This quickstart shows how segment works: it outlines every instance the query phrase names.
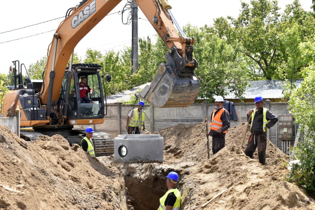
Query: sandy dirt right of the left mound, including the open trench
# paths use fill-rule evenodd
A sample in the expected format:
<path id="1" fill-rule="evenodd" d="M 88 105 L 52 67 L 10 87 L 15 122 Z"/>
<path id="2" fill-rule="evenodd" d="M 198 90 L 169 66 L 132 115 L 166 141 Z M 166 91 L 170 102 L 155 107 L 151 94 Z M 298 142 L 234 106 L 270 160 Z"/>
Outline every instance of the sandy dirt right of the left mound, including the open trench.
<path id="1" fill-rule="evenodd" d="M 151 164 L 113 163 L 112 157 L 102 162 L 116 166 L 125 178 L 135 209 L 157 209 L 159 197 L 167 191 L 165 176 L 169 171 L 180 175 L 182 209 L 201 209 L 201 205 L 228 188 L 203 209 L 315 209 L 295 185 L 284 181 L 289 170 L 283 167 L 287 156 L 269 140 L 266 165 L 244 154 L 241 127 L 230 128 L 226 147 L 207 157 L 205 124 L 179 124 L 160 130 L 164 137 L 164 162 Z M 243 125 L 245 131 L 246 125 Z M 249 132 L 245 141 L 249 137 Z M 149 201 L 149 202 L 148 202 Z"/>

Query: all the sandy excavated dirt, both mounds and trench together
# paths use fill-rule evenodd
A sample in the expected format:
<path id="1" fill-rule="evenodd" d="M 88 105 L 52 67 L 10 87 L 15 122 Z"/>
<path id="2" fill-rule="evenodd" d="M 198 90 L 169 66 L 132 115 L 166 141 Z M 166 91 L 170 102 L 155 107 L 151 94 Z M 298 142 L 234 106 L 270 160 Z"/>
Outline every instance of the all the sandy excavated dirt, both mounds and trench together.
<path id="1" fill-rule="evenodd" d="M 0 126 L 0 208 L 157 209 L 167 191 L 165 176 L 176 171 L 182 209 L 201 209 L 226 188 L 203 209 L 315 209 L 312 198 L 284 181 L 288 157 L 271 142 L 266 166 L 257 153 L 254 159 L 244 155 L 239 126 L 228 130 L 226 147 L 215 155 L 210 151 L 210 159 L 204 123 L 160 133 L 163 163 L 121 164 L 113 156 L 91 158 L 61 135 L 26 143 Z"/>

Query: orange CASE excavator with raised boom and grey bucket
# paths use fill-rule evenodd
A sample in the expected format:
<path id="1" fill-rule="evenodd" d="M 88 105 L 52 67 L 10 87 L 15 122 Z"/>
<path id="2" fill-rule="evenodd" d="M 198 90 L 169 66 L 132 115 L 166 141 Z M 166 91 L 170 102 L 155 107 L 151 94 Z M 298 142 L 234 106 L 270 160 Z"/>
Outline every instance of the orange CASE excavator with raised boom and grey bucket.
<path id="1" fill-rule="evenodd" d="M 10 86 L 5 95 L 2 110 L 9 116 L 17 106 L 20 108 L 20 126 L 31 126 L 35 131 L 20 132 L 26 140 L 42 134 L 60 134 L 70 144 L 80 143 L 84 132 L 73 130 L 74 125 L 103 124 L 107 112 L 104 78 L 110 81 L 111 77 L 100 75 L 100 65 L 72 64 L 72 57 L 77 43 L 120 2 L 83 0 L 67 11 L 49 44 L 43 81 L 28 77 L 22 83 L 22 69 L 27 73 L 26 67 L 18 60 L 13 61 L 10 70 L 14 75 L 14 86 Z M 198 62 L 192 56 L 194 38 L 186 37 L 181 30 L 167 0 L 135 2 L 169 48 L 165 55 L 167 62 L 160 64 L 151 85 L 140 92 L 140 97 L 155 107 L 191 105 L 199 92 L 199 80 L 194 72 Z M 80 78 L 84 77 L 93 93 L 81 100 Z M 109 134 L 95 132 L 93 138 L 97 156 L 112 154 L 113 143 Z"/>

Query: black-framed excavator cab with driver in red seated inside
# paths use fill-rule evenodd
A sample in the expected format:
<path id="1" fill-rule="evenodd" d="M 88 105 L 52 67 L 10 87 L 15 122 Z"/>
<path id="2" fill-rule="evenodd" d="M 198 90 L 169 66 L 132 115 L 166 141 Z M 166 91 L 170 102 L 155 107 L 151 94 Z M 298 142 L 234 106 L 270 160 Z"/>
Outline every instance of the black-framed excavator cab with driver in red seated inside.
<path id="1" fill-rule="evenodd" d="M 71 70 L 66 69 L 61 95 L 67 100 L 69 120 L 104 118 L 100 70 L 97 64 L 73 64 Z"/>

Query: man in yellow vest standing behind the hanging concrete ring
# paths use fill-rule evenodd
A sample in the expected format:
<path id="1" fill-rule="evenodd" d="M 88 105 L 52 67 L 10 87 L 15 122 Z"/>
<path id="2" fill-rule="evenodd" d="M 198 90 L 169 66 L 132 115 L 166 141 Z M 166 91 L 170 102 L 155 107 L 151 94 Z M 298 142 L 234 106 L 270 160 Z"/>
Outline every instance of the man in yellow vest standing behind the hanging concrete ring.
<path id="1" fill-rule="evenodd" d="M 138 103 L 138 108 L 131 110 L 128 114 L 126 125 L 126 130 L 128 131 L 128 134 L 140 134 L 140 126 L 142 126 L 143 130 L 145 130 L 146 127 L 144 126 L 144 120 L 144 102 L 140 101 Z"/>

